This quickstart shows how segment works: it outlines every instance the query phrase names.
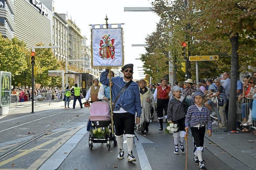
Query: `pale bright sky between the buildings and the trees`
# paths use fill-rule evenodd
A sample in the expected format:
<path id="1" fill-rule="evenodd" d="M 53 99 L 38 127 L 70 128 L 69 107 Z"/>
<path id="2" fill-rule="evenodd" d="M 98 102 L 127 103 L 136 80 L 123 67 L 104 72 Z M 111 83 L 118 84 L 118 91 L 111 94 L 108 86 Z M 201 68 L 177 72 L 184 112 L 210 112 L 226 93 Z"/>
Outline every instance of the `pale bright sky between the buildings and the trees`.
<path id="1" fill-rule="evenodd" d="M 132 63 L 133 78 L 140 79 L 139 74 L 143 74 L 142 62 L 135 60 L 140 58 L 140 54 L 145 53 L 144 47 L 132 47 L 132 44 L 145 44 L 145 38 L 148 34 L 156 30 L 156 23 L 159 17 L 151 11 L 130 12 L 124 11 L 124 7 L 151 7 L 150 0 L 54 0 L 55 12 L 67 13 L 68 18 L 76 22 L 81 29 L 82 35 L 89 39 L 87 44 L 91 43 L 90 24 L 105 24 L 106 14 L 108 15 L 108 24 L 124 23 L 124 64 Z M 113 26 L 114 27 L 114 26 Z"/>

